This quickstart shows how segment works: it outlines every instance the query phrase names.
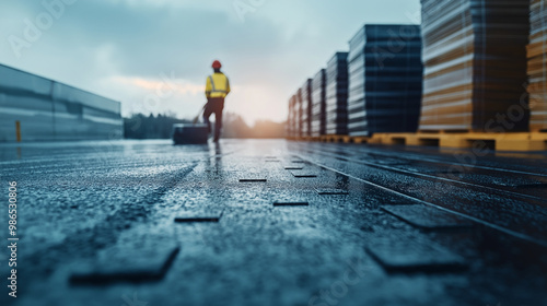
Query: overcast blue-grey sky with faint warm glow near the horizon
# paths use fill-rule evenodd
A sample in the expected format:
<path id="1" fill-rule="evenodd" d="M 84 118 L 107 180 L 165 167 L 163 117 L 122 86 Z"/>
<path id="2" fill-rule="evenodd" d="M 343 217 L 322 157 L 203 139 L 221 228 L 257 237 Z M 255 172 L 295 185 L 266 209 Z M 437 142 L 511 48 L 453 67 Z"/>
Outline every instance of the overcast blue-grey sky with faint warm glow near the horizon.
<path id="1" fill-rule="evenodd" d="M 219 59 L 226 110 L 281 121 L 291 94 L 363 24 L 418 23 L 419 2 L 2 0 L 0 63 L 120 101 L 124 116 L 190 118 Z"/>

